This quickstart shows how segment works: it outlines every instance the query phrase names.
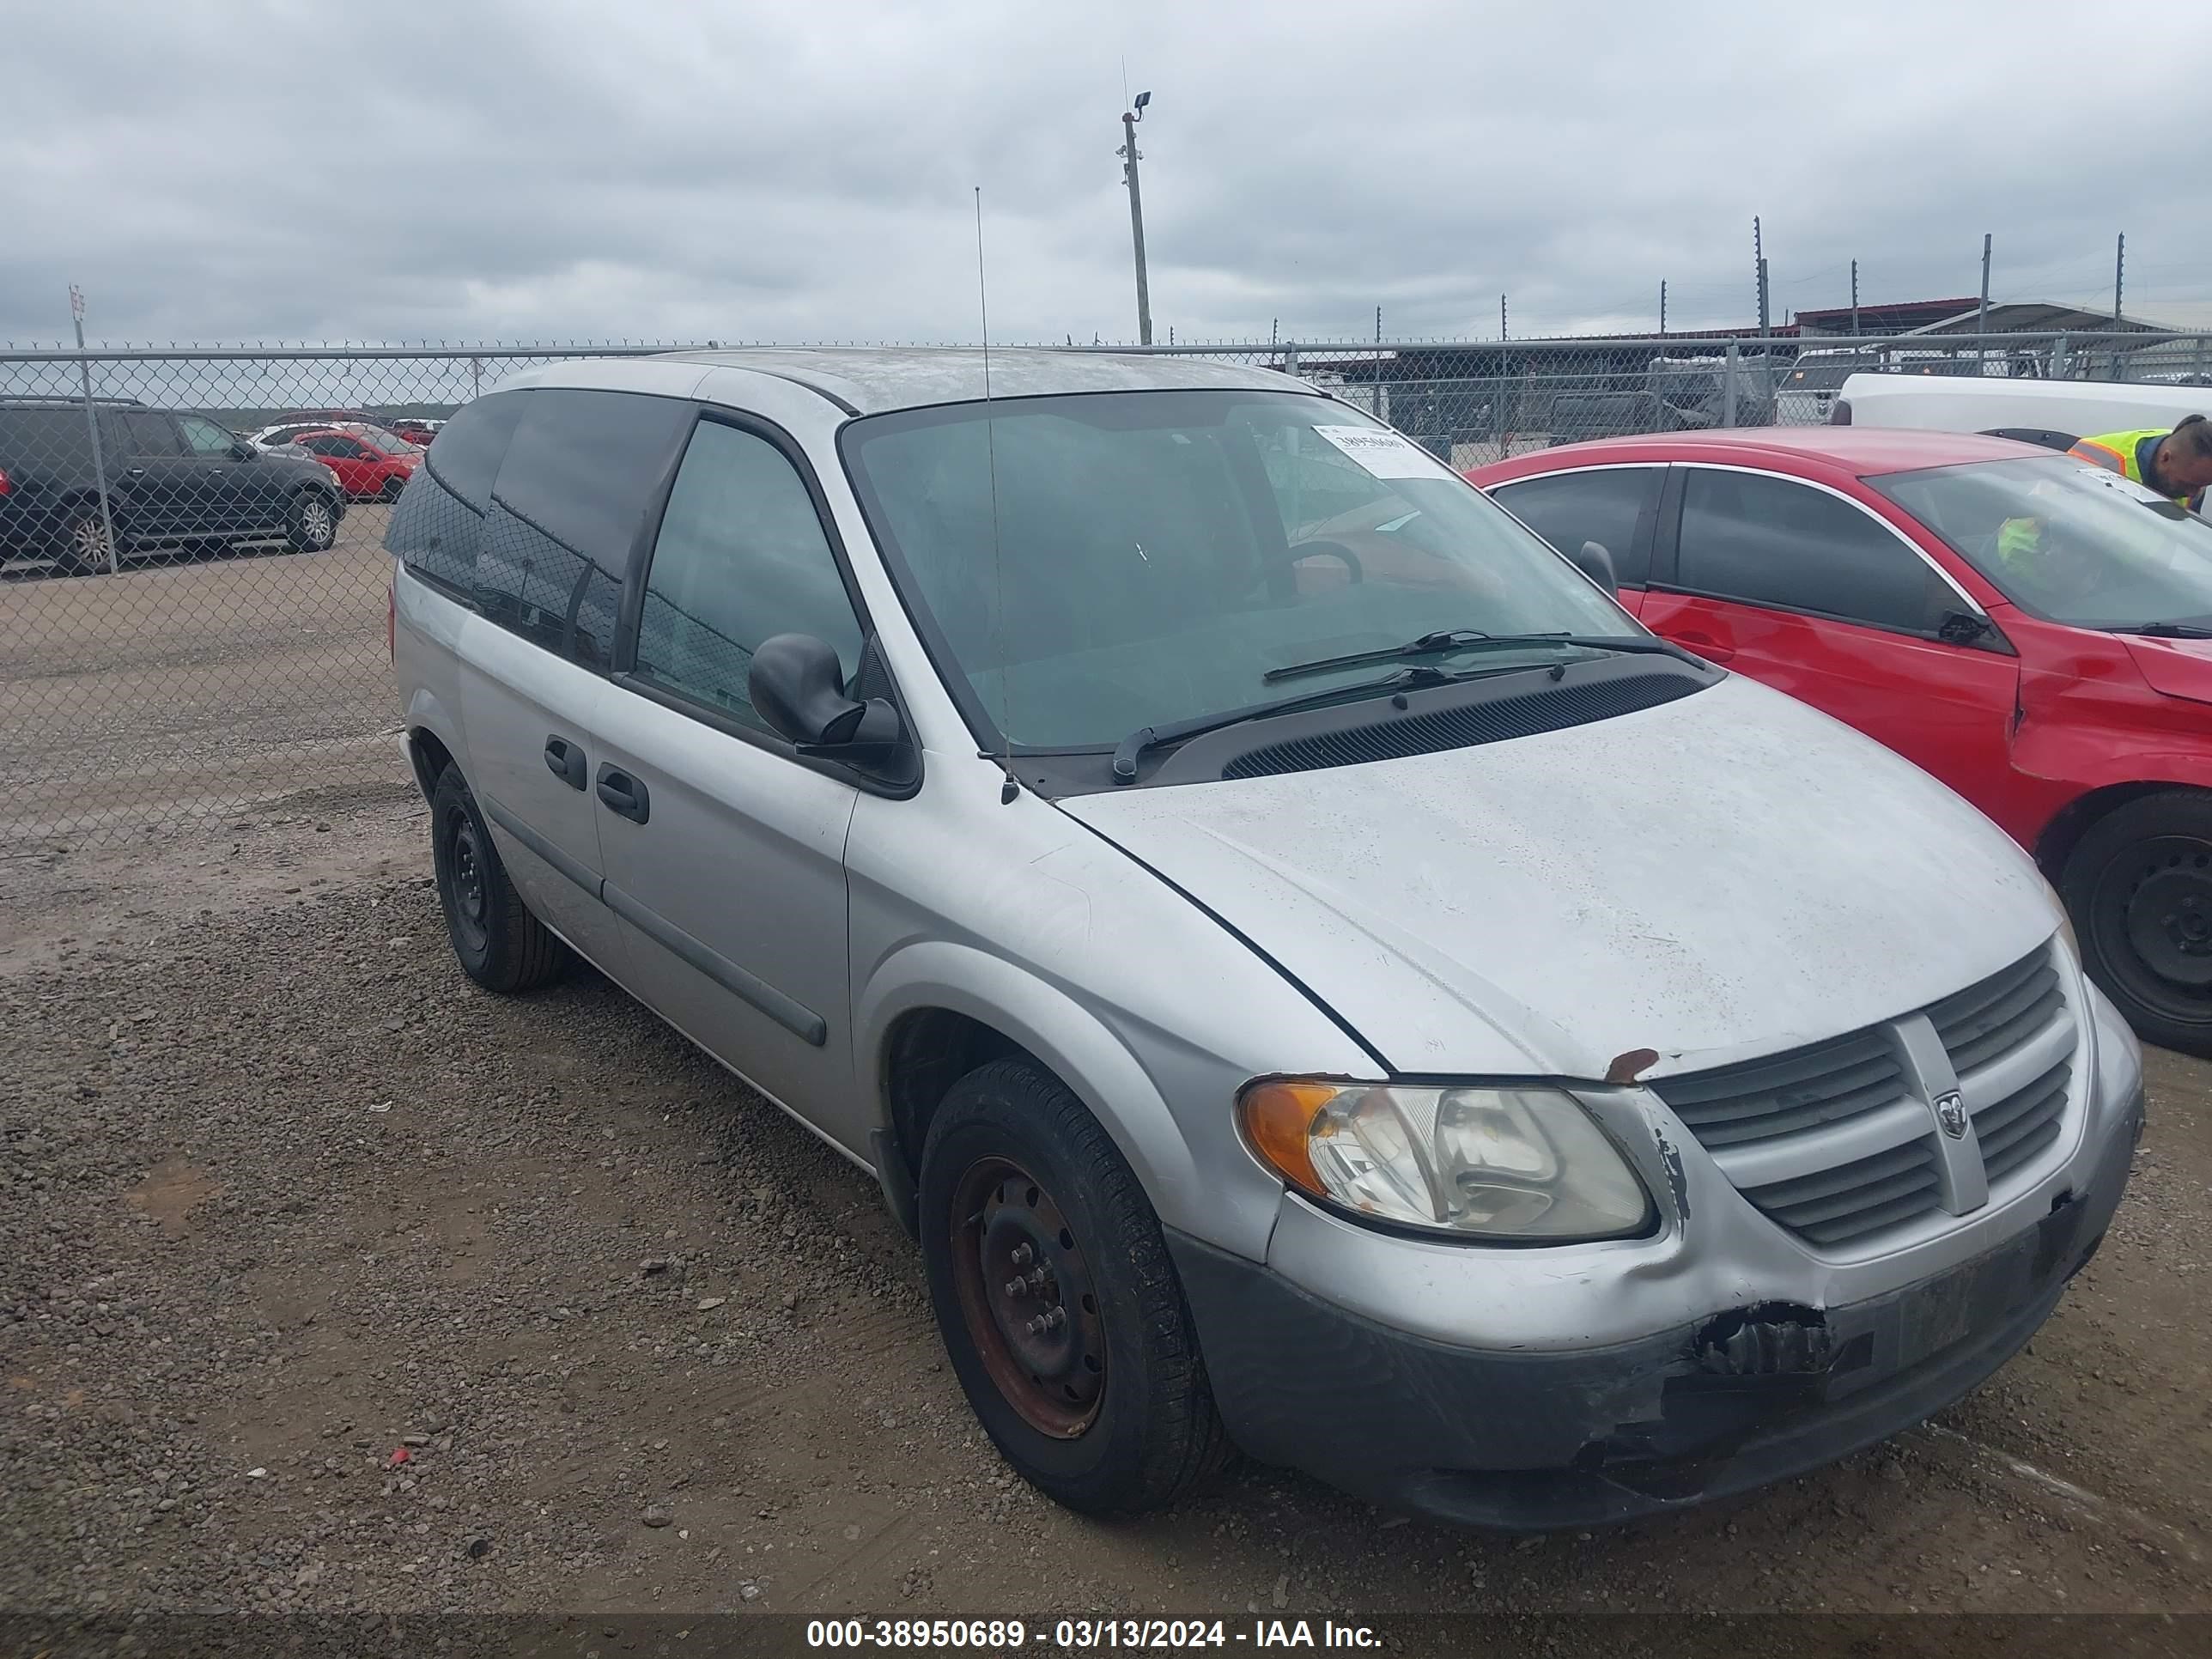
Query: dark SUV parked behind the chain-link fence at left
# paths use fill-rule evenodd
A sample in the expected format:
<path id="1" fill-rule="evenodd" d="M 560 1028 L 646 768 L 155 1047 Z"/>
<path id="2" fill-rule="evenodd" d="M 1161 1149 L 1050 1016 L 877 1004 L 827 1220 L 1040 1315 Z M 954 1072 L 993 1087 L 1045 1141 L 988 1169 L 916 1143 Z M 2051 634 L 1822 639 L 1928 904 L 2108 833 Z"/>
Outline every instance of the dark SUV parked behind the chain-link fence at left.
<path id="1" fill-rule="evenodd" d="M 305 456 L 270 456 L 208 420 L 139 403 L 100 400 L 100 467 L 84 405 L 0 398 L 0 555 L 49 555 L 64 575 L 108 568 L 186 544 L 283 538 L 319 553 L 338 538 L 345 493 Z"/>

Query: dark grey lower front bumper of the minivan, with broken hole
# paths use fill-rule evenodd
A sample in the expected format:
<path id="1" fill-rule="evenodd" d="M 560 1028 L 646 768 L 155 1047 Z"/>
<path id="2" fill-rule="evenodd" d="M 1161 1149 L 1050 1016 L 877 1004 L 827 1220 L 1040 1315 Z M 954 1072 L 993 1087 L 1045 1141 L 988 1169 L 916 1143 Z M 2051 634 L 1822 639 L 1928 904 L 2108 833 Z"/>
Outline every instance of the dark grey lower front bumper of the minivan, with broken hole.
<path id="1" fill-rule="evenodd" d="M 1759 1303 L 1575 1352 L 1389 1329 L 1170 1234 L 1214 1400 L 1245 1453 L 1438 1520 L 1544 1531 L 1686 1509 L 1920 1422 L 2008 1360 L 2095 1254 L 2143 1097 L 2008 1241 L 1832 1307 Z"/>

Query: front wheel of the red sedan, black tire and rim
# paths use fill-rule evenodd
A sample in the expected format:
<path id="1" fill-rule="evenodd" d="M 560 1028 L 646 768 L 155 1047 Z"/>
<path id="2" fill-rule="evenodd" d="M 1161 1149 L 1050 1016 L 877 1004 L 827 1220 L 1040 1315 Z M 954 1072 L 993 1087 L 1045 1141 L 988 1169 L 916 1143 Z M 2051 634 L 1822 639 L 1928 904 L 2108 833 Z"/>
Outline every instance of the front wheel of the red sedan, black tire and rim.
<path id="1" fill-rule="evenodd" d="M 2081 967 L 2137 1035 L 2212 1055 L 2212 790 L 2161 790 L 2099 818 L 2059 894 Z"/>

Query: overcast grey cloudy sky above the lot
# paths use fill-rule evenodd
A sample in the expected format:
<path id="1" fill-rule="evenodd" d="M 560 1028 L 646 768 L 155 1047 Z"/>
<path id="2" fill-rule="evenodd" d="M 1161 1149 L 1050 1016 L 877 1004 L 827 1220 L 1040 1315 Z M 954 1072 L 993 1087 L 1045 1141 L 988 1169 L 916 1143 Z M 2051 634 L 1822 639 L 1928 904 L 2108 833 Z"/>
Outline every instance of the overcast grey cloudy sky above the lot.
<path id="1" fill-rule="evenodd" d="M 2115 13 L 2117 18 L 2119 13 Z M 2212 323 L 2212 9 L 2051 0 L 0 0 L 0 341 Z"/>

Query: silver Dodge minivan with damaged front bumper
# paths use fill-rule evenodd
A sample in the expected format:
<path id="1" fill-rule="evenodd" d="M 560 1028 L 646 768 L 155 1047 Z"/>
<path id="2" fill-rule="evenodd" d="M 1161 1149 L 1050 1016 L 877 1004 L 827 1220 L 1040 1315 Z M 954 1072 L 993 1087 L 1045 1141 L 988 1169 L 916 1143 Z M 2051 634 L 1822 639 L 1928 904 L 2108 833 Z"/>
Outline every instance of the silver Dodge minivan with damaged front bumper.
<path id="1" fill-rule="evenodd" d="M 1955 1400 L 2141 1060 L 2035 865 L 1298 380 L 568 363 L 387 540 L 460 964 L 883 1186 L 1006 1460 L 1582 1526 Z"/>

